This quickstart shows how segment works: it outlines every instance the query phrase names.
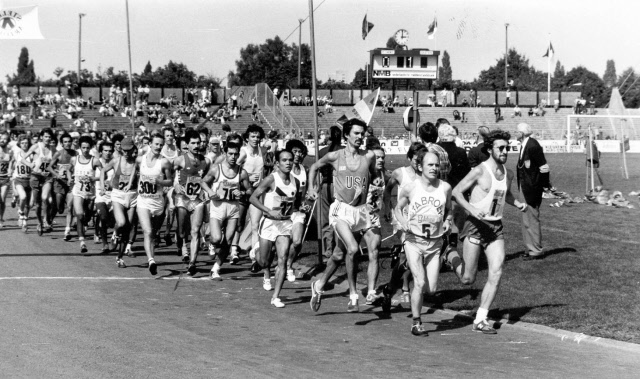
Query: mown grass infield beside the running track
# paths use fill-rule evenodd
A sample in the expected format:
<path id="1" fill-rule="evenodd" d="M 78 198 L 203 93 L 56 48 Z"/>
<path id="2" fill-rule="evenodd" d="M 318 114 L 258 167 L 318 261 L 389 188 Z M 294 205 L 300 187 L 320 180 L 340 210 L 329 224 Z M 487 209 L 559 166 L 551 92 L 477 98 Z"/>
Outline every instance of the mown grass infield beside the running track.
<path id="1" fill-rule="evenodd" d="M 508 167 L 515 168 L 515 155 Z M 585 156 L 547 154 L 551 181 L 573 196 L 585 192 Z M 406 159 L 387 156 L 387 168 L 404 165 Z M 592 336 L 640 343 L 640 204 L 628 193 L 640 189 L 640 156 L 628 155 L 629 180 L 622 178 L 619 155 L 603 154 L 601 175 L 605 188 L 622 191 L 636 209 L 616 209 L 592 203 L 551 208 L 553 200 L 541 206 L 544 259 L 523 261 L 521 218 L 507 207 L 504 217 L 507 257 L 498 295 L 489 312 L 494 319 L 526 321 Z M 596 183 L 597 184 L 597 183 Z M 515 185 L 513 187 L 515 191 Z M 383 237 L 391 234 L 383 226 Z M 389 249 L 400 243 L 392 238 L 383 243 L 379 283 L 390 274 Z M 317 261 L 317 244 L 305 245 L 301 262 Z M 358 279 L 366 283 L 368 262 L 361 259 Z M 338 275 L 344 275 L 344 268 Z M 440 275 L 439 291 L 429 302 L 454 310 L 474 311 L 486 281 L 486 264 L 481 259 L 476 283 L 463 286 L 452 272 Z M 345 303 L 346 304 L 346 303 Z"/>

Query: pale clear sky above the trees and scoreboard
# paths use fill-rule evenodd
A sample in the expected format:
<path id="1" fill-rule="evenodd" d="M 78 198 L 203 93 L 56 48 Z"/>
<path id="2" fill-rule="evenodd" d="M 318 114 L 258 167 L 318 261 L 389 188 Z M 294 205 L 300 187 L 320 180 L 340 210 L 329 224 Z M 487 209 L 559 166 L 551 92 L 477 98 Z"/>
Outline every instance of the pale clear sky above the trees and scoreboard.
<path id="1" fill-rule="evenodd" d="M 82 20 L 82 63 L 94 73 L 128 71 L 125 0 L 0 0 L 0 8 L 37 5 L 44 40 L 0 40 L 0 81 L 14 74 L 26 46 L 36 75 L 54 78 L 56 67 L 77 70 L 78 14 Z M 364 67 L 369 50 L 384 47 L 398 29 L 409 32 L 409 48 L 448 51 L 453 78 L 471 81 L 493 65 L 508 45 L 547 71 L 549 40 L 567 70 L 585 66 L 602 77 L 613 59 L 618 75 L 640 69 L 635 26 L 640 2 L 625 0 L 418 1 L 314 0 L 317 76 L 346 71 L 350 81 Z M 298 43 L 298 19 L 309 14 L 306 0 L 130 0 L 133 72 L 173 60 L 198 75 L 219 78 L 235 70 L 240 49 L 266 39 Z M 374 24 L 362 40 L 362 19 Z M 437 18 L 436 38 L 427 28 Z M 302 42 L 310 42 L 309 21 Z M 555 66 L 555 63 L 553 63 Z M 554 66 L 552 66 L 552 71 Z"/>

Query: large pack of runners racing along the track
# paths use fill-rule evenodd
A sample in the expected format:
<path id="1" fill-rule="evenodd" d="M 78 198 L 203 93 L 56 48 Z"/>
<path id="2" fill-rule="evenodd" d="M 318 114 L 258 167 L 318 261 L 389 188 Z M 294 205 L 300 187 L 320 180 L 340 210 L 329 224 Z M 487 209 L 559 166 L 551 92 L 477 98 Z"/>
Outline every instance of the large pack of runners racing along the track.
<path id="1" fill-rule="evenodd" d="M 205 130 L 187 129 L 177 138 L 172 128 L 152 132 L 148 145 L 142 146 L 122 135 L 95 146 L 88 135 L 74 141 L 65 133 L 58 141 L 51 129 L 43 129 L 33 145 L 24 136 L 10 143 L 8 134 L 0 134 L 0 223 L 4 223 L 12 186 L 18 225 L 25 232 L 31 226 L 32 209 L 40 236 L 52 231 L 57 214 L 66 213 L 65 241 L 74 238 L 71 229 L 75 222 L 80 253 L 87 253 L 87 228 L 93 224 L 94 240 L 102 244 L 102 252 L 115 251 L 117 267 L 124 268 L 125 255 L 135 256 L 131 246 L 140 229 L 151 275 L 158 272 L 155 249 L 162 242 L 166 246 L 175 242 L 191 276 L 197 272 L 200 250 L 208 250 L 214 257 L 209 274 L 212 280 L 222 280 L 224 263 L 239 262 L 246 224 L 251 228 L 246 249 L 251 271 L 263 272 L 263 289 L 273 291 L 271 304 L 282 308 L 285 303 L 280 293 L 285 279 L 295 281 L 301 276 L 293 264 L 319 196 L 319 169 L 329 166 L 334 187 L 329 224 L 337 236 L 336 246 L 325 271 L 311 283 L 311 309 L 318 311 L 325 285 L 345 262 L 350 292 L 347 310 L 359 311 L 356 255 L 364 239 L 369 258 L 366 303 L 380 303 L 384 311 L 390 311 L 391 297 L 400 282 L 412 279 L 411 332 L 424 336 L 427 332 L 420 318 L 423 296 L 435 293 L 441 265 L 450 266 L 462 283 L 473 283 L 478 257 L 484 250 L 489 277 L 473 330 L 495 334 L 487 312 L 505 257 L 502 212 L 505 203 L 523 211 L 526 208 L 511 194 L 513 174 L 504 166 L 509 134 L 491 132 L 484 144 L 489 159 L 452 188 L 439 179 L 441 160 L 446 159 L 441 149 L 413 143 L 407 166 L 388 176 L 383 148 L 375 143 L 363 146 L 365 129 L 366 124 L 358 119 L 345 122 L 344 148 L 324 155 L 309 169 L 303 166 L 307 155 L 304 142 L 289 140 L 282 149 L 263 146 L 264 130 L 255 124 L 242 136 L 228 135 L 224 144 L 209 138 Z M 397 204 L 392 208 L 390 187 L 395 185 Z M 454 203 L 466 211 L 460 228 L 462 253 L 447 238 L 454 224 Z M 245 222 L 247 217 L 249 222 Z M 392 222 L 402 232 L 404 251 L 391 281 L 378 286 L 382 221 Z M 403 275 L 403 268 L 411 275 Z M 409 288 L 408 284 L 402 287 Z"/>

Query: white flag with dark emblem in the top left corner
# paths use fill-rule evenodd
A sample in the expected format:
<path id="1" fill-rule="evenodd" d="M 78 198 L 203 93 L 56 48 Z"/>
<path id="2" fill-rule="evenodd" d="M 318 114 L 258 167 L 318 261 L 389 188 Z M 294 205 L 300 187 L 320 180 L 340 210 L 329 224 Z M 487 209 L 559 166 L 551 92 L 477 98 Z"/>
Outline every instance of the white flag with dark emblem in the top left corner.
<path id="1" fill-rule="evenodd" d="M 0 10 L 0 39 L 44 39 L 38 23 L 38 7 Z"/>

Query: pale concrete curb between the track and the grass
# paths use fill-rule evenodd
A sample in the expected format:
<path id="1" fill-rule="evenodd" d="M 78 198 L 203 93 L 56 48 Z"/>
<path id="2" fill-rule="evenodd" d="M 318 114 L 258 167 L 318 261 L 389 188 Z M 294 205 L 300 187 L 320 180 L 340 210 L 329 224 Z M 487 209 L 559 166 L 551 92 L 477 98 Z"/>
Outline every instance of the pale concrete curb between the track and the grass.
<path id="1" fill-rule="evenodd" d="M 307 268 L 307 272 L 311 270 L 311 267 L 309 266 L 303 266 L 303 267 Z M 313 281 L 314 279 L 315 277 L 312 278 L 311 281 Z M 333 284 L 334 289 L 339 289 L 343 291 L 349 290 L 349 286 L 345 284 L 345 282 L 337 284 L 332 280 L 329 283 Z M 471 322 L 473 322 L 473 319 L 474 319 L 474 317 L 470 316 L 469 314 L 454 311 L 451 309 L 433 308 L 428 305 L 423 305 L 422 308 L 431 313 L 440 313 L 440 314 L 445 314 L 451 317 L 466 318 L 466 319 L 469 319 L 469 321 Z M 560 339 L 560 342 L 566 342 L 566 343 L 575 342 L 578 345 L 579 344 L 597 345 L 597 346 L 602 346 L 606 348 L 614 348 L 614 349 L 625 350 L 625 351 L 640 354 L 640 345 L 631 343 L 631 342 L 617 341 L 610 338 L 593 337 L 593 336 L 586 335 L 584 333 L 570 332 L 568 330 L 556 329 L 549 326 L 532 324 L 532 323 L 523 322 L 523 321 L 511 321 L 511 320 L 502 319 L 502 320 L 494 320 L 494 322 L 498 324 L 501 328 L 516 328 L 520 330 L 526 330 L 530 332 L 547 334 L 554 337 L 558 337 L 558 339 Z"/>

